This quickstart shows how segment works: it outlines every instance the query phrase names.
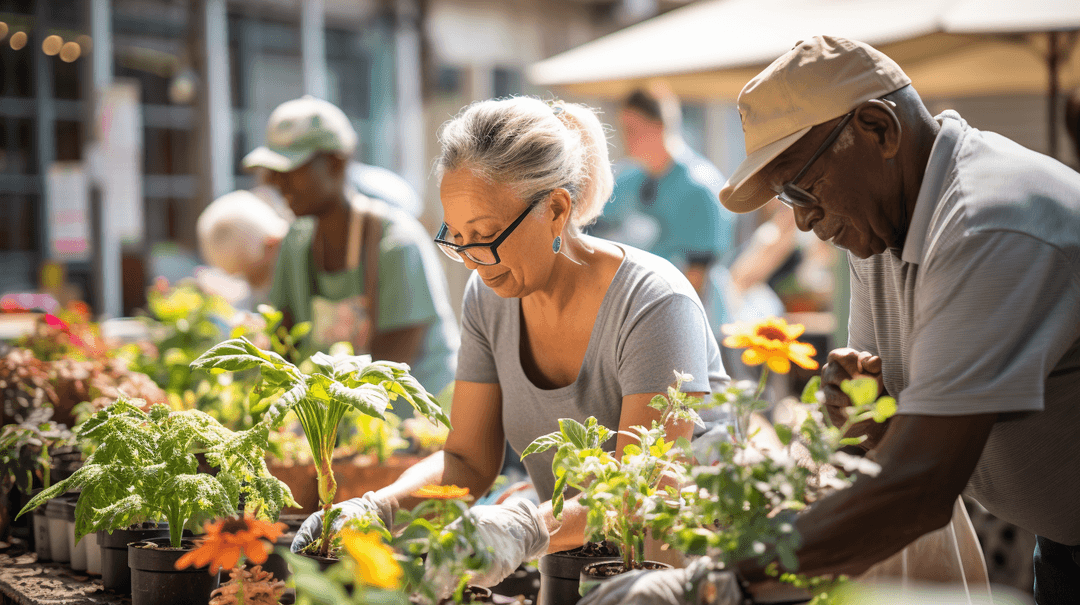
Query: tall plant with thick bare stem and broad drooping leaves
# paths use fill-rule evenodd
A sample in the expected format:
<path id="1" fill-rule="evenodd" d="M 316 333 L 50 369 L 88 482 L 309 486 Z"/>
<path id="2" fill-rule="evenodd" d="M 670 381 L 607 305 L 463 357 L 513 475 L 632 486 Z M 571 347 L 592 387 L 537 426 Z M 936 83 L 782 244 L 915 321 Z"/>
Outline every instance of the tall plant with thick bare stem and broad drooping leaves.
<path id="1" fill-rule="evenodd" d="M 280 354 L 259 349 L 240 337 L 215 346 L 191 365 L 212 373 L 259 369 L 262 379 L 258 392 L 273 402 L 260 424 L 276 427 L 288 412 L 296 414 L 315 462 L 319 500 L 324 514 L 328 515 L 337 492 L 332 467 L 334 447 L 338 427 L 348 409 L 382 418 L 391 402 L 401 398 L 433 421 L 449 426 L 449 418 L 408 373 L 405 364 L 372 361 L 370 355 L 330 357 L 321 352 L 309 361 L 313 369 L 305 373 Z M 323 556 L 329 549 L 332 525 L 330 517 L 324 521 L 319 540 Z"/>

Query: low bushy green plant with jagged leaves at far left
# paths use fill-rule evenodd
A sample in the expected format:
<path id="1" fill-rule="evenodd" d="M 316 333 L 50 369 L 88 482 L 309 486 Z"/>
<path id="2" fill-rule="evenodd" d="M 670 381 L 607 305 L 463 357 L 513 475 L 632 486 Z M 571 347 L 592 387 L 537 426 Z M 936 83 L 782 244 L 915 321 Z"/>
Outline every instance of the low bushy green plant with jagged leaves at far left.
<path id="1" fill-rule="evenodd" d="M 69 489 L 82 489 L 76 506 L 76 535 L 112 530 L 146 522 L 168 522 L 173 547 L 185 528 L 195 530 L 214 516 L 243 506 L 276 519 L 282 506 L 295 506 L 288 487 L 264 461 L 267 428 L 233 432 L 197 409 L 150 411 L 124 396 L 77 427 L 94 444 L 85 463 L 71 476 L 35 496 L 19 515 Z M 199 458 L 217 470 L 199 472 Z"/>

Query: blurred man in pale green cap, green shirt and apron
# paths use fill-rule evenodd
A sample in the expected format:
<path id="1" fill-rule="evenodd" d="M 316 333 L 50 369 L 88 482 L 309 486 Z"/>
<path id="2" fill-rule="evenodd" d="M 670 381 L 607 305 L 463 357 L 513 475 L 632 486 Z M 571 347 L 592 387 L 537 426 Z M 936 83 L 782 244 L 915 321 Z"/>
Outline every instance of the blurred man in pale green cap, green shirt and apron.
<path id="1" fill-rule="evenodd" d="M 245 167 L 269 171 L 297 216 L 270 302 L 289 322 L 312 322 L 315 348 L 348 341 L 357 353 L 408 363 L 438 393 L 454 379 L 459 341 L 446 278 L 415 218 L 347 185 L 355 148 L 346 115 L 305 96 L 273 110 L 267 144 L 244 158 Z"/>

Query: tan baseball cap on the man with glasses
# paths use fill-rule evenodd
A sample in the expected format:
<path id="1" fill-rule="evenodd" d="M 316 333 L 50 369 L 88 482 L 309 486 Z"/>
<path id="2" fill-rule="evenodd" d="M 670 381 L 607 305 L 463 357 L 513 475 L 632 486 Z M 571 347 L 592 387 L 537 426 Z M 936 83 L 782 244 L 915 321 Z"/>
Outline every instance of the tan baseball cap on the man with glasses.
<path id="1" fill-rule="evenodd" d="M 764 206 L 775 192 L 754 178 L 762 167 L 813 126 L 910 83 L 895 62 L 863 42 L 832 36 L 799 42 L 739 93 L 746 159 L 720 190 L 720 203 L 739 213 Z"/>

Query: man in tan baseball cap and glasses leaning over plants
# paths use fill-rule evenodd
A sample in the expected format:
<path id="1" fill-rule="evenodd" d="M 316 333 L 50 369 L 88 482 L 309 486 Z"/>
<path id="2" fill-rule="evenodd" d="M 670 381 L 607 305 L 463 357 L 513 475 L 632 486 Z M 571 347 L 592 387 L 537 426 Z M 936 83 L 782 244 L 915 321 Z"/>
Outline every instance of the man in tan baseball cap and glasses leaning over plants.
<path id="1" fill-rule="evenodd" d="M 829 415 L 845 417 L 850 378 L 897 401 L 887 424 L 856 427 L 880 472 L 799 515 L 799 573 L 858 575 L 950 520 L 970 528 L 962 492 L 1037 536 L 1038 605 L 1076 603 L 1080 174 L 956 111 L 931 116 L 892 59 L 842 38 L 799 42 L 739 110 L 746 160 L 721 203 L 779 198 L 799 229 L 849 252 L 848 348 L 822 369 Z M 974 569 L 957 559 L 969 590 L 988 588 L 977 551 Z M 764 580 L 757 563 L 739 568 Z M 653 597 L 685 586 L 656 574 L 667 576 L 624 581 L 644 601 L 629 584 L 607 594 L 685 602 Z"/>

